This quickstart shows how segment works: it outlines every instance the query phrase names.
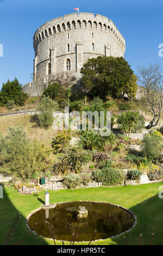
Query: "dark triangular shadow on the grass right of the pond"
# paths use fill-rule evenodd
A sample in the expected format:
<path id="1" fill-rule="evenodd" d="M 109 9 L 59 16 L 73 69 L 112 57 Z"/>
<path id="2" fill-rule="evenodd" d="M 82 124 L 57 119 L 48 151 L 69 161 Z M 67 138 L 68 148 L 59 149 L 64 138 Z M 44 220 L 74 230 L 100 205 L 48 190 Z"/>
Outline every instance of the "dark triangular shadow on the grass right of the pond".
<path id="1" fill-rule="evenodd" d="M 129 209 L 137 218 L 136 226 L 126 233 L 129 245 L 139 245 L 140 234 L 142 233 L 141 245 L 149 245 L 154 233 L 152 245 L 163 245 L 163 199 L 158 194 L 136 204 Z M 118 245 L 126 245 L 123 236 L 112 239 Z"/>

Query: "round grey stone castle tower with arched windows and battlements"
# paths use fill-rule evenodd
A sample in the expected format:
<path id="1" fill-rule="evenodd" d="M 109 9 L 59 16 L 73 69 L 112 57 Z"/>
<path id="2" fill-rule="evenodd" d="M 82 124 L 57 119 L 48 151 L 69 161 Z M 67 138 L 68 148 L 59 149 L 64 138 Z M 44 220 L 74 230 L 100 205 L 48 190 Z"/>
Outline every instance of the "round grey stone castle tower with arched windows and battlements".
<path id="1" fill-rule="evenodd" d="M 33 82 L 23 86 L 29 96 L 41 95 L 55 81 L 67 87 L 76 83 L 89 58 L 123 57 L 126 50 L 125 40 L 114 23 L 91 13 L 73 13 L 46 22 L 36 30 L 33 45 Z"/>

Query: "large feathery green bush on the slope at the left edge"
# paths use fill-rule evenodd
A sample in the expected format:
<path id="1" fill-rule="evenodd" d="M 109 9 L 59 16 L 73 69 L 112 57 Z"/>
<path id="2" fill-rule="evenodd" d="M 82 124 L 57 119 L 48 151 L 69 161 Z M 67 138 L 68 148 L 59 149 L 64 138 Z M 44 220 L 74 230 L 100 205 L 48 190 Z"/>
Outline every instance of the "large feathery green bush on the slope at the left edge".
<path id="1" fill-rule="evenodd" d="M 10 172 L 23 180 L 35 172 L 46 170 L 51 165 L 51 149 L 40 143 L 32 144 L 22 126 L 8 127 L 8 135 L 0 137 L 1 161 L 7 164 Z"/>

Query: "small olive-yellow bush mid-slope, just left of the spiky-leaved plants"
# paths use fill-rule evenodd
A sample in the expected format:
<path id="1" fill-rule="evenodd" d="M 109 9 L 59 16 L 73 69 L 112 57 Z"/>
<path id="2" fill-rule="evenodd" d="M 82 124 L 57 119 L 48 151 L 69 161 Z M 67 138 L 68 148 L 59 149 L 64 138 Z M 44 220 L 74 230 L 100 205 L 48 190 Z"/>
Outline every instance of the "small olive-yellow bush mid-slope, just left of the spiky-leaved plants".
<path id="1" fill-rule="evenodd" d="M 61 131 L 59 134 L 53 139 L 52 148 L 54 154 L 60 153 L 64 147 L 67 147 L 68 143 L 71 140 L 71 135 L 69 131 Z"/>

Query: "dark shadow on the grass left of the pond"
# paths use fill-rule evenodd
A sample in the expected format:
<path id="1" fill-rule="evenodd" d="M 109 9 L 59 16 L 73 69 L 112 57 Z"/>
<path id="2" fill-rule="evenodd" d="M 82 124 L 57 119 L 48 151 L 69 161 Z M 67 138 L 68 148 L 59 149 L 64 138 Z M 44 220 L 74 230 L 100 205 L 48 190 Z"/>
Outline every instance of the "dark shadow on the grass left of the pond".
<path id="1" fill-rule="evenodd" d="M 3 199 L 0 199 L 0 245 L 2 245 L 5 237 L 8 235 L 10 228 L 14 224 L 16 218 L 18 217 L 19 212 L 15 206 L 11 203 L 5 188 L 3 189 Z M 29 233 L 28 228 L 26 227 L 26 218 L 21 215 L 20 221 L 17 224 L 17 227 L 14 228 L 14 234 L 6 240 L 8 245 L 13 245 L 18 241 L 21 241 Z M 13 232 L 13 231 L 12 231 Z M 11 234 L 12 234 L 11 232 Z M 41 239 L 34 234 L 30 234 L 24 241 L 19 243 L 20 245 L 47 245 L 46 241 Z"/>

